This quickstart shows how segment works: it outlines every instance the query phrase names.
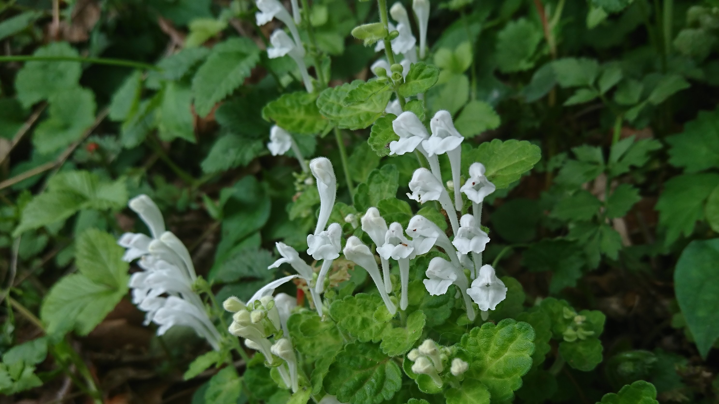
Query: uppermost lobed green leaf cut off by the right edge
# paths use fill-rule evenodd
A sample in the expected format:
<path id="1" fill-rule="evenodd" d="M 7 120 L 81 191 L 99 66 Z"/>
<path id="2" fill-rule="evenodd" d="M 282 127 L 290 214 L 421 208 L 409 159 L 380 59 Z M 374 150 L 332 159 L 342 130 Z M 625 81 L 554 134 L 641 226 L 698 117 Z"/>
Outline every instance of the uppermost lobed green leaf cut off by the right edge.
<path id="1" fill-rule="evenodd" d="M 669 162 L 687 173 L 719 167 L 719 109 L 699 111 L 684 124 L 684 132 L 667 137 Z"/>

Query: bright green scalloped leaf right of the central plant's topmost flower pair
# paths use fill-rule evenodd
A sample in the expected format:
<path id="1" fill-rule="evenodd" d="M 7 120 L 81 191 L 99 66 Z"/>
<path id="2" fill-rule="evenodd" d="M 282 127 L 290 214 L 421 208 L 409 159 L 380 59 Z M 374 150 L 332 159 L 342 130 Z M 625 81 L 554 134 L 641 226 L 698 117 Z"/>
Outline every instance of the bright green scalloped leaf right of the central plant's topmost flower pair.
<path id="1" fill-rule="evenodd" d="M 480 144 L 470 155 L 462 157 L 462 173 L 467 173 L 472 162 L 481 162 L 487 168 L 487 178 L 497 189 L 502 189 L 531 170 L 540 158 L 539 147 L 526 140 L 502 142 L 494 139 Z"/>

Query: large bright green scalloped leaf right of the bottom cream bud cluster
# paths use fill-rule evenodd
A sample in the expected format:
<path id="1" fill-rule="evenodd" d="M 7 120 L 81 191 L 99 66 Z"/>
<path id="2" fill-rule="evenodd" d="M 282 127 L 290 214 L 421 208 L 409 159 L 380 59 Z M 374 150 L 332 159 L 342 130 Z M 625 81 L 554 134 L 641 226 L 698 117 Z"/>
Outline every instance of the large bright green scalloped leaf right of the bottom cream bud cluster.
<path id="1" fill-rule="evenodd" d="M 513 391 L 522 385 L 521 377 L 532 366 L 533 341 L 532 327 L 511 318 L 475 327 L 459 343 L 472 358 L 466 376 L 487 386 L 493 400 L 512 400 Z"/>

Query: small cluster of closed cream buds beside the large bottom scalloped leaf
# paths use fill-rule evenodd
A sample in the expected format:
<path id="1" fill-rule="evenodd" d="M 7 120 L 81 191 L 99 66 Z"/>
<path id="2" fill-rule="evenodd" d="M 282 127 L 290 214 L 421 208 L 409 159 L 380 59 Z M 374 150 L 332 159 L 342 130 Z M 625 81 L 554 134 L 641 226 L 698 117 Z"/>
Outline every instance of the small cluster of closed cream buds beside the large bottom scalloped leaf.
<path id="1" fill-rule="evenodd" d="M 446 346 L 437 346 L 431 339 L 425 339 L 420 346 L 407 354 L 407 359 L 414 362 L 411 367 L 412 372 L 417 375 L 428 375 L 437 386 L 441 387 L 444 384 L 441 373 L 446 371 L 444 362 L 449 360 L 451 354 L 452 350 Z M 462 375 L 469 368 L 467 362 L 455 357 L 452 359 L 449 372 L 462 380 Z"/>

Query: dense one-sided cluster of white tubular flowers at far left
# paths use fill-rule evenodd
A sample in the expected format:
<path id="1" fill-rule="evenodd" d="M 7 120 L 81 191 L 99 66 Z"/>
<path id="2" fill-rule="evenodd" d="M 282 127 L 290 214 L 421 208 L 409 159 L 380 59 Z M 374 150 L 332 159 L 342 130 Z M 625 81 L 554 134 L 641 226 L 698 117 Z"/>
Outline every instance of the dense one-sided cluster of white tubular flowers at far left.
<path id="1" fill-rule="evenodd" d="M 123 260 L 137 261 L 141 272 L 132 274 L 132 303 L 147 312 L 145 325 L 154 322 L 160 327 L 157 335 L 165 334 L 175 325 L 189 326 L 219 349 L 221 336 L 206 313 L 200 297 L 193 291 L 197 280 L 190 253 L 180 239 L 165 231 L 160 209 L 147 195 L 129 201 L 150 229 L 152 237 L 142 233 L 125 233 L 118 244 L 126 248 Z"/>

